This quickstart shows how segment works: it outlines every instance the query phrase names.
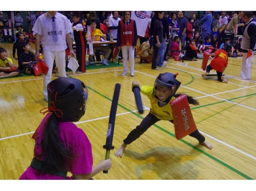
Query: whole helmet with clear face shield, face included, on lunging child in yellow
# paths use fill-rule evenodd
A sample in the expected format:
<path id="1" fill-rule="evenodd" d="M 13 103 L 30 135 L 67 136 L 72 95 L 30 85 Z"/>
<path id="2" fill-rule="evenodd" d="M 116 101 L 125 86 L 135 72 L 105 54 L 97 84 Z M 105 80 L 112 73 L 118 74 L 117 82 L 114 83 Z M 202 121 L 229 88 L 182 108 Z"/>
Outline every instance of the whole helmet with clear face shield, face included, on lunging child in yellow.
<path id="1" fill-rule="evenodd" d="M 176 93 L 181 83 L 175 78 L 176 74 L 168 72 L 160 73 L 156 78 L 153 93 L 158 102 L 169 102 Z"/>

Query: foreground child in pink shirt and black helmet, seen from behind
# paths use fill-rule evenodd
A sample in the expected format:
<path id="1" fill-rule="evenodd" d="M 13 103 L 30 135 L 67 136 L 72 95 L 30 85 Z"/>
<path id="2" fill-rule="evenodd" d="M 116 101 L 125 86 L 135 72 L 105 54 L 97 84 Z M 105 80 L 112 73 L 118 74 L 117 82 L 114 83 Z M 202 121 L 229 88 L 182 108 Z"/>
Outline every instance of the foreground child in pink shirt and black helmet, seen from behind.
<path id="1" fill-rule="evenodd" d="M 61 77 L 52 80 L 47 91 L 48 110 L 42 113 L 49 113 L 32 136 L 36 141 L 34 158 L 20 180 L 87 180 L 109 170 L 111 159 L 92 167 L 91 143 L 72 123 L 85 113 L 88 90 L 84 83 Z M 73 176 L 67 177 L 67 172 Z"/>

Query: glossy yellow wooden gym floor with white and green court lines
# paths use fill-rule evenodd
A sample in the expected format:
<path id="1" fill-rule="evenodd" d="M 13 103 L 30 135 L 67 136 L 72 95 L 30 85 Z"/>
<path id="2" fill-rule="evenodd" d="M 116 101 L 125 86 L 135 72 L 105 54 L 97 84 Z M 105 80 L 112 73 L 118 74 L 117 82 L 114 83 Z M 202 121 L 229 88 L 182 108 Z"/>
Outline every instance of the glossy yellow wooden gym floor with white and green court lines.
<path id="1" fill-rule="evenodd" d="M 34 49 L 34 44 L 31 44 Z M 2 47 L 12 57 L 12 44 Z M 13 60 L 14 63 L 17 61 Z M 87 70 L 72 75 L 89 88 L 85 115 L 77 122 L 92 143 L 94 165 L 105 157 L 108 116 L 115 83 L 121 84 L 119 106 L 110 151 L 112 168 L 99 173 L 96 180 L 246 180 L 256 179 L 256 56 L 253 56 L 251 80 L 240 80 L 242 58 L 229 58 L 225 75 L 228 84 L 216 77 L 202 79 L 201 61 L 184 62 L 169 59 L 161 71 L 151 70 L 151 64 L 139 64 L 135 59 L 135 76 L 121 76 L 122 67 Z M 133 80 L 140 85 L 154 85 L 159 73 L 179 73 L 182 82 L 179 93 L 194 96 L 200 106 L 192 106 L 198 129 L 213 149 L 199 145 L 187 136 L 178 141 L 173 125 L 159 121 L 117 158 L 118 149 L 127 134 L 148 114 L 136 111 L 131 90 Z M 212 72 L 214 73 L 214 72 Z M 52 75 L 54 76 L 54 74 Z M 53 77 L 52 79 L 54 79 Z M 33 157 L 31 138 L 47 107 L 43 99 L 43 76 L 14 77 L 0 80 L 0 179 L 15 180 L 27 169 Z M 149 100 L 142 95 L 145 108 Z"/>

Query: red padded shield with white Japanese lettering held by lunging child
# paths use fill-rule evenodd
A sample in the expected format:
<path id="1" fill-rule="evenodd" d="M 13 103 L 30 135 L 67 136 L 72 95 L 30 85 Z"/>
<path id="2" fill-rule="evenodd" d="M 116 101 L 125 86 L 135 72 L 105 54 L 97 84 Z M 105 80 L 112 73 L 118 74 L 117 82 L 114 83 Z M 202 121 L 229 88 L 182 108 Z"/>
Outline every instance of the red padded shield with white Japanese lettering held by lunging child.
<path id="1" fill-rule="evenodd" d="M 182 94 L 181 96 L 173 99 L 170 102 L 170 105 L 172 108 L 176 139 L 180 140 L 188 134 L 196 131 L 196 124 L 188 105 L 187 96 Z"/>

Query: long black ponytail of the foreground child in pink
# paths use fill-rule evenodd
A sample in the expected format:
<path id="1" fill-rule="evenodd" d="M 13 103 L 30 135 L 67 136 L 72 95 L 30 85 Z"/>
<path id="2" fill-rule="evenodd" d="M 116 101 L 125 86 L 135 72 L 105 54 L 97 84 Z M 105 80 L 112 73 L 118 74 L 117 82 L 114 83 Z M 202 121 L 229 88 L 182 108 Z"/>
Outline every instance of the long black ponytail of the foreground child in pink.
<path id="1" fill-rule="evenodd" d="M 43 157 L 43 163 L 40 170 L 44 172 L 56 173 L 65 170 L 66 161 L 74 158 L 60 139 L 58 119 L 55 113 L 52 113 L 44 127 L 42 149 L 40 157 Z"/>

